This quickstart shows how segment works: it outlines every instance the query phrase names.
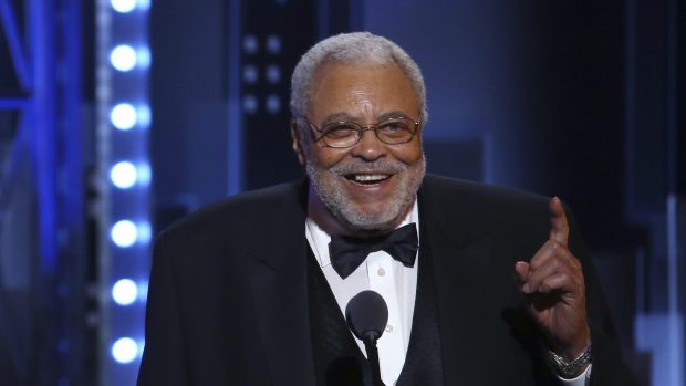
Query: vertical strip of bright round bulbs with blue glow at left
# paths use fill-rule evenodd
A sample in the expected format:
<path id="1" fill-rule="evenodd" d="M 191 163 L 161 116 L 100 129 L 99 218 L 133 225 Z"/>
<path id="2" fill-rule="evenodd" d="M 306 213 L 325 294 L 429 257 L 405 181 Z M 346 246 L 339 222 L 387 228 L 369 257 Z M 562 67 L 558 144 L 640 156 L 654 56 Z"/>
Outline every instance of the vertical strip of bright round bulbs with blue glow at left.
<path id="1" fill-rule="evenodd" d="M 107 384 L 129 384 L 144 344 L 150 253 L 149 0 L 100 0 L 101 280 Z"/>

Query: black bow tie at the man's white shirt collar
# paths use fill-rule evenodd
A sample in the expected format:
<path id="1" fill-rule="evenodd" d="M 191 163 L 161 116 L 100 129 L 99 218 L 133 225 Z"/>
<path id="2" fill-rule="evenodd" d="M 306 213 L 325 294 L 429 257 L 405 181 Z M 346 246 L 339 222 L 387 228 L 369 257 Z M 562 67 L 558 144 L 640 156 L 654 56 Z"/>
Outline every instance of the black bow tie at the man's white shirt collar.
<path id="1" fill-rule="evenodd" d="M 331 265 L 347 278 L 372 252 L 385 251 L 405 267 L 413 267 L 417 255 L 417 226 L 408 223 L 393 232 L 363 239 L 351 236 L 332 236 L 329 243 Z"/>

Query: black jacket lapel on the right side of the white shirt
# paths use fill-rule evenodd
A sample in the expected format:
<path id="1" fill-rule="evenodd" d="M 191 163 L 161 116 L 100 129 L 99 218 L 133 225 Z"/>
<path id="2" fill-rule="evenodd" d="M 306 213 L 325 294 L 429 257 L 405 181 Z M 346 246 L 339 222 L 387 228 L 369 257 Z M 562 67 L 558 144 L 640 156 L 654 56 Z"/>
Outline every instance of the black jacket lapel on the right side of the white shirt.
<path id="1" fill-rule="evenodd" d="M 468 226 L 475 216 L 471 208 L 451 204 L 447 210 L 441 204 L 459 198 L 440 196 L 438 189 L 430 189 L 430 181 L 419 191 L 424 242 L 434 261 L 445 385 L 487 385 L 484 304 L 488 302 L 490 237 Z"/>

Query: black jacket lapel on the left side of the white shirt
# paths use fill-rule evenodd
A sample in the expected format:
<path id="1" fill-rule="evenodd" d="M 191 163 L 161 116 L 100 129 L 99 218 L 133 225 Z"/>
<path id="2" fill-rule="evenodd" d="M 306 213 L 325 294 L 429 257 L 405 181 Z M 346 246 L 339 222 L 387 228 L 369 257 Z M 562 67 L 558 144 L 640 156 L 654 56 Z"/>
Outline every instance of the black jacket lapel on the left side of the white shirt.
<path id="1" fill-rule="evenodd" d="M 303 181 L 284 197 L 280 209 L 271 213 L 271 222 L 266 223 L 269 243 L 258 243 L 247 253 L 259 338 L 272 380 L 279 385 L 314 385 L 308 319 L 305 192 Z"/>

